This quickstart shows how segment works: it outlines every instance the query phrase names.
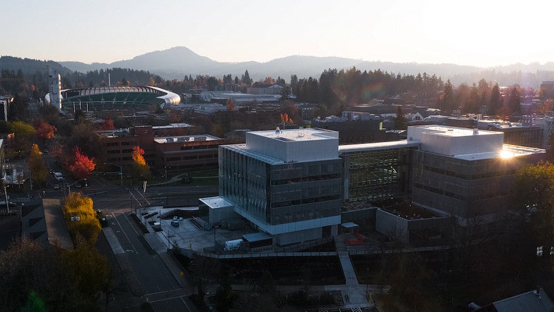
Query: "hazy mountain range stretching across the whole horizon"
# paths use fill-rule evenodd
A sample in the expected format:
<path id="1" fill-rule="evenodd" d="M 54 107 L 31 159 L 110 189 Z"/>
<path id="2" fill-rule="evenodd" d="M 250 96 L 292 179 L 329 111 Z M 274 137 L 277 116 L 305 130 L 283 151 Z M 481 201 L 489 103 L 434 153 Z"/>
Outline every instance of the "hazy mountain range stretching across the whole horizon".
<path id="1" fill-rule="evenodd" d="M 316 57 L 307 55 L 291 55 L 285 58 L 270 60 L 269 62 L 217 62 L 187 49 L 177 46 L 163 51 L 153 51 L 138 55 L 131 60 L 120 60 L 109 64 L 82 62 L 53 62 L 21 59 L 3 56 L 0 58 L 0 69 L 16 70 L 18 68 L 33 71 L 35 67 L 43 70 L 48 63 L 60 74 L 68 71 L 87 72 L 98 69 L 111 69 L 114 67 L 150 71 L 165 79 L 183 79 L 189 74 L 209 75 L 220 78 L 226 74 L 241 77 L 244 71 L 249 71 L 253 80 L 260 80 L 271 76 L 282 77 L 289 80 L 292 74 L 298 78 L 318 78 L 325 69 L 350 69 L 356 67 L 360 71 L 387 71 L 388 73 L 400 73 L 401 75 L 417 75 L 427 73 L 436 75 L 444 81 L 451 80 L 454 85 L 467 83 L 472 85 L 481 79 L 499 85 L 512 85 L 518 83 L 523 87 L 538 88 L 544 80 L 554 80 L 554 62 L 539 64 L 510 64 L 501 67 L 474 67 L 457 64 L 421 64 L 416 62 L 395 63 L 356 60 L 339 57 Z M 33 69 L 35 68 L 35 69 Z M 45 69 L 44 69 L 45 70 Z"/>

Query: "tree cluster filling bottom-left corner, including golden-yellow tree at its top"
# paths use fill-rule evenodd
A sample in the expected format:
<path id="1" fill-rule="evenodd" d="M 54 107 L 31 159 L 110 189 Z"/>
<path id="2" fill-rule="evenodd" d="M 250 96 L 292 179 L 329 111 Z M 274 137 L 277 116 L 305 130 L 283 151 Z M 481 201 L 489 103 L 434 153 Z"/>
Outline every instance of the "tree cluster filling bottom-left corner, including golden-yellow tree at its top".
<path id="1" fill-rule="evenodd" d="M 71 193 L 63 211 L 74 250 L 19 239 L 0 252 L 1 311 L 96 311 L 99 293 L 111 291 L 109 261 L 95 247 L 101 227 L 91 198 Z"/>

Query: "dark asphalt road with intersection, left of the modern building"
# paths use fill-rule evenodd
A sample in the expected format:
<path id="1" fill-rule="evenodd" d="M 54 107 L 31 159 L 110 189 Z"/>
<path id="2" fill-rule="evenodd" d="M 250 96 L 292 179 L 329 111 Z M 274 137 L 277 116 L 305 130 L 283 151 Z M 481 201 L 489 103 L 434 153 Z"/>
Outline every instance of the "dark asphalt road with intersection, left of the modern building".
<path id="1" fill-rule="evenodd" d="M 51 185 L 60 184 L 53 177 L 48 177 L 48 182 Z M 74 182 L 66 181 L 66 184 Z M 44 189 L 43 196 L 62 200 L 69 191 L 60 184 L 60 189 Z M 93 199 L 94 208 L 105 213 L 109 227 L 124 251 L 123 254 L 113 254 L 101 235 L 98 242 L 100 250 L 111 261 L 118 263 L 114 266 L 112 262 L 116 289 L 107 298 L 108 311 L 131 309 L 141 302 L 150 302 L 154 311 L 197 311 L 188 300 L 186 290 L 181 288 L 159 254 L 146 242 L 139 227 L 129 218 L 129 212 L 133 208 L 164 205 L 168 201 L 197 205 L 199 197 L 212 196 L 217 188 L 152 187 L 144 193 L 142 189 L 114 186 L 102 178 L 91 177 L 89 187 L 71 187 L 71 191 L 80 191 Z"/>

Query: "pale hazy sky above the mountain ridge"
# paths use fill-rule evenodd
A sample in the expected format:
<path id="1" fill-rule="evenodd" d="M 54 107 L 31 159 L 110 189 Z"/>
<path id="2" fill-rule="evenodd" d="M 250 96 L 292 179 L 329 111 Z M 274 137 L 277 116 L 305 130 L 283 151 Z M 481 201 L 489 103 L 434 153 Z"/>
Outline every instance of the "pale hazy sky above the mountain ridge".
<path id="1" fill-rule="evenodd" d="M 0 55 L 114 62 L 186 46 L 219 62 L 288 55 L 490 67 L 554 61 L 553 1 L 3 1 Z"/>

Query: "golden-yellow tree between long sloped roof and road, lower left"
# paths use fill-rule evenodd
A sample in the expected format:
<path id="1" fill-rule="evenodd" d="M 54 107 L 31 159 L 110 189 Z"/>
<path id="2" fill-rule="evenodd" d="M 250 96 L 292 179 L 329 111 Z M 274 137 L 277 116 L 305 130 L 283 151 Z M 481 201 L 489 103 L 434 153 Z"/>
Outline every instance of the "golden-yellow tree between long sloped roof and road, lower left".
<path id="1" fill-rule="evenodd" d="M 91 198 L 83 196 L 80 192 L 72 192 L 64 202 L 63 211 L 67 229 L 75 244 L 80 237 L 92 245 L 96 243 L 102 227 L 96 218 Z"/>

